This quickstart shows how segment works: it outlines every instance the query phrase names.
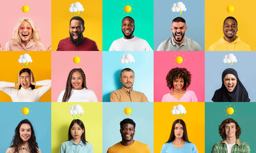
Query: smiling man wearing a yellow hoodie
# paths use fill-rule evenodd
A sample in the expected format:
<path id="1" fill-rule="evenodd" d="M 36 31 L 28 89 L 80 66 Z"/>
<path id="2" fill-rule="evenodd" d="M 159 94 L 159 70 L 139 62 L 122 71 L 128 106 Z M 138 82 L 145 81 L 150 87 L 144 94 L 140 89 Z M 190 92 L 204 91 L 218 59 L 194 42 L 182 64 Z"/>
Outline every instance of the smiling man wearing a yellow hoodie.
<path id="1" fill-rule="evenodd" d="M 223 23 L 224 36 L 212 44 L 209 51 L 251 51 L 248 44 L 240 40 L 237 33 L 237 20 L 234 17 L 227 17 Z"/>

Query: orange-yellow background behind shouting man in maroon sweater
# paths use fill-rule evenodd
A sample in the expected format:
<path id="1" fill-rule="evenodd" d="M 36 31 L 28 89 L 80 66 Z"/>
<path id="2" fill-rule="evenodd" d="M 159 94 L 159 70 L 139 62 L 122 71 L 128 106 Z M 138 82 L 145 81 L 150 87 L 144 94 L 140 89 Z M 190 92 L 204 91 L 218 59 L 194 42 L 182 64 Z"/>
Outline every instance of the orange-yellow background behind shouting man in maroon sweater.
<path id="1" fill-rule="evenodd" d="M 84 19 L 84 37 L 97 43 L 102 50 L 102 1 L 61 1 L 52 0 L 52 50 L 57 50 L 60 40 L 69 37 L 69 21 L 73 17 L 68 11 L 70 4 L 79 2 L 84 11 L 80 15 Z"/>

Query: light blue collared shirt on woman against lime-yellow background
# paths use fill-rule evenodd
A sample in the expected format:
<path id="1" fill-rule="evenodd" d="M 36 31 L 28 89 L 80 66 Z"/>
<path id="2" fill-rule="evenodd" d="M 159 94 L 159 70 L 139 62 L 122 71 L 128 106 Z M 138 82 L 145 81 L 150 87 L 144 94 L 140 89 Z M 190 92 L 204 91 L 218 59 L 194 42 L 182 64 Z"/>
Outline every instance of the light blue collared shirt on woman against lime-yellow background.
<path id="1" fill-rule="evenodd" d="M 80 141 L 78 144 L 76 144 L 71 139 L 61 144 L 59 153 L 93 153 L 93 148 L 88 142 L 84 144 L 82 141 Z"/>

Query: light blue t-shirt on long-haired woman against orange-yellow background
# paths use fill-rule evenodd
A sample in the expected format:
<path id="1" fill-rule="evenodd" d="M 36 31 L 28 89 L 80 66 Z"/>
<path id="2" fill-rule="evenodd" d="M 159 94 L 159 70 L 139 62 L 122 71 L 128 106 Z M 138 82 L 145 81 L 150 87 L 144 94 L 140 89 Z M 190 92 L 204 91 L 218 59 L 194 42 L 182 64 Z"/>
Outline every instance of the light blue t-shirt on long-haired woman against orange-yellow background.
<path id="1" fill-rule="evenodd" d="M 193 143 L 186 142 L 181 148 L 176 148 L 172 142 L 164 143 L 161 153 L 198 153 Z"/>

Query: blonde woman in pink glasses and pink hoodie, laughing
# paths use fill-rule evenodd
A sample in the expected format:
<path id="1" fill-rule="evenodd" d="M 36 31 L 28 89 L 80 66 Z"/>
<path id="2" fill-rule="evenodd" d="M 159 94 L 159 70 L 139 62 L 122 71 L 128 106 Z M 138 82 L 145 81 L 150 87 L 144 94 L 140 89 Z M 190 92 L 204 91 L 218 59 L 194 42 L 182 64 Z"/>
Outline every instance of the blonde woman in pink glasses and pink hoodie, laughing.
<path id="1" fill-rule="evenodd" d="M 1 47 L 3 50 L 3 47 Z M 47 50 L 49 50 L 49 47 Z M 5 45 L 6 51 L 45 51 L 40 35 L 30 18 L 21 18 L 13 29 L 13 38 Z"/>

